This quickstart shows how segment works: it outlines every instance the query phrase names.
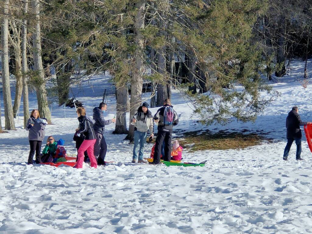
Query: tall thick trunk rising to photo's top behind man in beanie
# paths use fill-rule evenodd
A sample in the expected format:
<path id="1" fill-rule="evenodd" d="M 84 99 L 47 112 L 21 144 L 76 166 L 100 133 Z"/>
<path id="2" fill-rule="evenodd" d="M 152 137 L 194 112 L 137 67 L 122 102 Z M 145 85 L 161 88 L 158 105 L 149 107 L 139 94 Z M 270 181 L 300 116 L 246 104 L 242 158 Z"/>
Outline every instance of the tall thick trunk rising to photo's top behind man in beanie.
<path id="1" fill-rule="evenodd" d="M 136 6 L 138 9 L 135 26 L 135 43 L 138 46 L 135 54 L 135 68 L 132 71 L 131 78 L 131 96 L 130 96 L 130 123 L 133 115 L 141 105 L 143 72 L 144 72 L 144 40 L 140 30 L 144 28 L 144 9 L 145 1 L 139 1 Z M 134 125 L 129 123 L 129 132 L 126 139 L 131 142 L 134 139 Z"/>

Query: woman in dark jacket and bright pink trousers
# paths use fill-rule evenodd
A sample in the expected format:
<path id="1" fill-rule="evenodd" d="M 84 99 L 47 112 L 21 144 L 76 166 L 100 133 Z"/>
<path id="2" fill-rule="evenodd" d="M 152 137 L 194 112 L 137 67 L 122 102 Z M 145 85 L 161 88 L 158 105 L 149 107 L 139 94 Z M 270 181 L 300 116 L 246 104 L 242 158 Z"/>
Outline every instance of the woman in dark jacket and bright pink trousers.
<path id="1" fill-rule="evenodd" d="M 83 107 L 78 107 L 76 113 L 79 120 L 79 129 L 76 129 L 77 135 L 80 136 L 82 134 L 84 141 L 78 149 L 78 160 L 75 168 L 82 168 L 85 151 L 88 152 L 91 167 L 97 168 L 97 162 L 93 154 L 94 143 L 96 140 L 93 130 L 94 121 L 90 119 L 89 116 L 85 115 L 85 108 Z"/>

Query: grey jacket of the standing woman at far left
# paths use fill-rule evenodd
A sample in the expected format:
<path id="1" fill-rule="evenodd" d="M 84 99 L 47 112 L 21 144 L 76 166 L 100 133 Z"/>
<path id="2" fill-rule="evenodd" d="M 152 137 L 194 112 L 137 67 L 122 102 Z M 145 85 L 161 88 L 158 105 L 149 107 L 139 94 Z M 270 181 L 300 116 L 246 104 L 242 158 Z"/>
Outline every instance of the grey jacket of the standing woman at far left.
<path id="1" fill-rule="evenodd" d="M 34 124 L 30 129 L 27 128 L 29 124 Z M 30 141 L 42 141 L 45 135 L 47 121 L 46 119 L 35 119 L 30 117 L 27 120 L 26 131 L 28 132 L 28 140 Z"/>

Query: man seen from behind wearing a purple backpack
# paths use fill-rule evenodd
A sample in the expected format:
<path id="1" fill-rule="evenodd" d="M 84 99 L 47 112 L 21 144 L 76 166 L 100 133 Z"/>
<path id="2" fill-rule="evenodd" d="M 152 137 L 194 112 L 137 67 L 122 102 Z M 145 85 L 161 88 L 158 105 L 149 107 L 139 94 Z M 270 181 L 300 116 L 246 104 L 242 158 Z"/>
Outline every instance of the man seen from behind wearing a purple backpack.
<path id="1" fill-rule="evenodd" d="M 154 121 L 158 123 L 158 134 L 152 164 L 160 163 L 161 146 L 163 141 L 165 142 L 163 159 L 170 162 L 172 130 L 173 126 L 179 123 L 177 112 L 173 110 L 170 99 L 166 99 L 163 102 L 163 107 L 157 110 L 157 113 L 154 115 Z"/>

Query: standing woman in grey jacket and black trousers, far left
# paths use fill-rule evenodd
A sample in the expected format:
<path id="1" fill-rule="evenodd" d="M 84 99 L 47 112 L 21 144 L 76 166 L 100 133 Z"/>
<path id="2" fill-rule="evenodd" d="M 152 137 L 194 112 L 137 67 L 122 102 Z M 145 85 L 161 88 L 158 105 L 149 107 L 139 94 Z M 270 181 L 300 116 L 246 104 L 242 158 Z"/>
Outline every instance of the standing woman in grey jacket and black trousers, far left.
<path id="1" fill-rule="evenodd" d="M 37 109 L 32 110 L 30 118 L 27 120 L 26 131 L 28 131 L 28 140 L 30 152 L 28 156 L 28 165 L 33 164 L 33 157 L 36 150 L 36 163 L 41 163 L 40 151 L 41 144 L 45 134 L 46 119 L 41 119 Z"/>

